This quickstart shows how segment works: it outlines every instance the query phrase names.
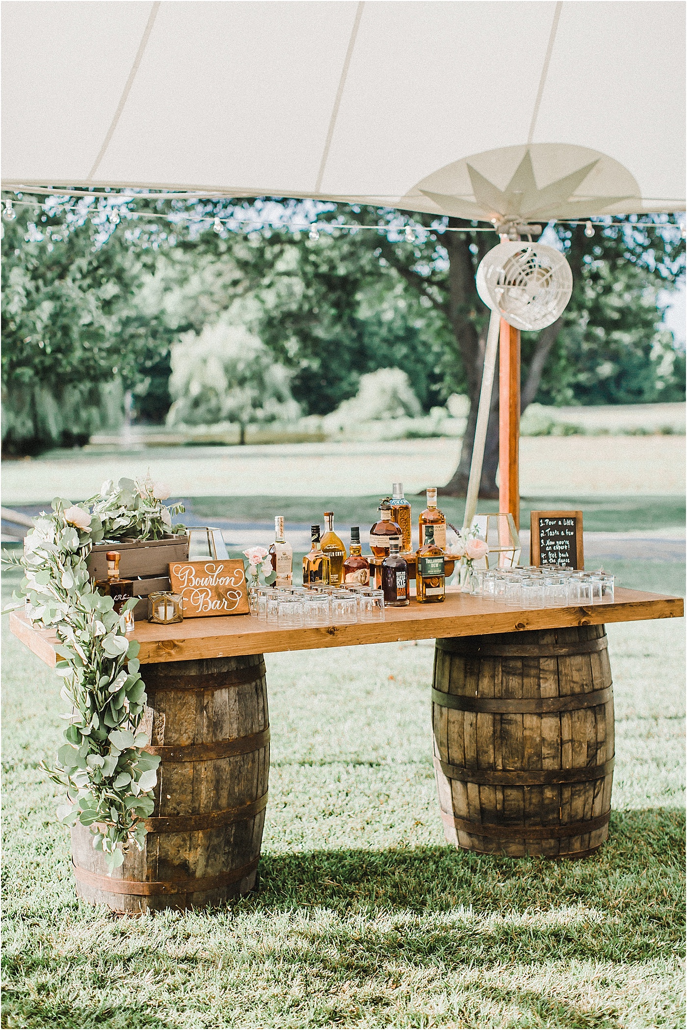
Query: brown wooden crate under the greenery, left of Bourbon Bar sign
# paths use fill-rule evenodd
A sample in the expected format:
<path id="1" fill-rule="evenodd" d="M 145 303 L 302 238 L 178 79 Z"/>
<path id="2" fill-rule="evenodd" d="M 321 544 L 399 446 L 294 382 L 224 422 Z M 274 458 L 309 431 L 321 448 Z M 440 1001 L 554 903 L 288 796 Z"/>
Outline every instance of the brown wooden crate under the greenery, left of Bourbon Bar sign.
<path id="1" fill-rule="evenodd" d="M 147 619 L 149 593 L 169 590 L 170 561 L 187 561 L 188 537 L 184 534 L 162 540 L 118 540 L 96 544 L 88 557 L 92 580 L 107 579 L 107 551 L 119 552 L 119 576 L 134 581 L 134 596 L 141 600 L 134 609 L 135 619 Z"/>

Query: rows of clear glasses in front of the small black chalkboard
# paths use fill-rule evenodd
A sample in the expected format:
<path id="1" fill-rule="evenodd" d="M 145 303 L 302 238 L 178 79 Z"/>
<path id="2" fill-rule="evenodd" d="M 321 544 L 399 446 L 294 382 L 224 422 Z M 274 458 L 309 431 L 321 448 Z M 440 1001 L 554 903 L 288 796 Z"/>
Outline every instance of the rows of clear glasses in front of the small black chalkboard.
<path id="1" fill-rule="evenodd" d="M 561 608 L 613 600 L 615 577 L 558 565 L 477 569 L 471 593 L 518 608 Z"/>

